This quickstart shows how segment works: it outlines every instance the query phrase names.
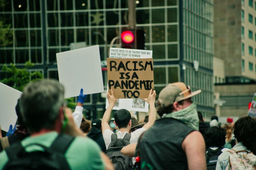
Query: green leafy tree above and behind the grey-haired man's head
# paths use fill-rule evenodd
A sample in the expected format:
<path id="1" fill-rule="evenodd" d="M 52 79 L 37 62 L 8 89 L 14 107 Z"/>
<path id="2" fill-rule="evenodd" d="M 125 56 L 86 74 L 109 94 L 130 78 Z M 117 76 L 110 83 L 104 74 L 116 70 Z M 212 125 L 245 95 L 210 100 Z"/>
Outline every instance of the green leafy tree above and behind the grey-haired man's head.
<path id="1" fill-rule="evenodd" d="M 18 90 L 23 91 L 23 88 L 26 86 L 27 83 L 30 81 L 40 80 L 43 78 L 43 74 L 39 71 L 29 72 L 27 69 L 33 67 L 34 64 L 31 61 L 25 63 L 24 68 L 17 68 L 15 64 L 10 64 L 7 66 L 6 64 L 3 65 L 2 71 L 6 72 L 10 75 L 8 78 L 4 78 L 0 80 L 1 83 L 6 85 L 10 85 L 11 87 Z"/>

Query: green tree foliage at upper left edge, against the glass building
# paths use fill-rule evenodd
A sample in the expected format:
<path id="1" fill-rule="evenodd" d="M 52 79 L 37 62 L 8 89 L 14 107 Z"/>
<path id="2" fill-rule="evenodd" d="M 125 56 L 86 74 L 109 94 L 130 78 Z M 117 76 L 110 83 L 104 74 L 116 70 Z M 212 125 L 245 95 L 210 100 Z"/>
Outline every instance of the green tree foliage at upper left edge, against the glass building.
<path id="1" fill-rule="evenodd" d="M 0 9 L 4 8 L 6 0 L 0 0 Z M 6 24 L 6 18 L 0 18 L 0 47 L 6 47 L 12 44 L 13 29 L 11 24 Z"/>

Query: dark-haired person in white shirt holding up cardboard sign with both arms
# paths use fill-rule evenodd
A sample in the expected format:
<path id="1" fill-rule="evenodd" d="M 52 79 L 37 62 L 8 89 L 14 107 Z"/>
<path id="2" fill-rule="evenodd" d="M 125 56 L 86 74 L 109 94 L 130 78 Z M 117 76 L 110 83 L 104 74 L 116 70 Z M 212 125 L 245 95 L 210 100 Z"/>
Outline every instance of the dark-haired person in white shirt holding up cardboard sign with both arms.
<path id="1" fill-rule="evenodd" d="M 109 106 L 105 111 L 103 118 L 102 118 L 102 134 L 106 144 L 106 154 L 110 157 L 112 162 L 114 163 L 115 169 L 125 167 L 124 169 L 131 169 L 132 168 L 132 160 L 131 158 L 126 157 L 121 153 L 121 149 L 128 145 L 133 144 L 138 141 L 140 135 L 147 129 L 149 129 L 156 120 L 156 110 L 155 110 L 155 99 L 156 99 L 156 92 L 153 89 L 150 90 L 148 98 L 144 99 L 149 104 L 149 118 L 148 123 L 146 123 L 143 128 L 137 129 L 131 134 L 129 131 L 131 129 L 131 114 L 126 109 L 120 109 L 115 113 L 115 125 L 118 127 L 118 132 L 114 134 L 110 130 L 110 126 L 108 124 L 112 108 L 114 107 L 117 99 L 114 96 L 114 93 L 111 89 L 111 95 L 107 93 L 107 98 L 109 101 Z M 117 140 L 118 139 L 118 140 Z M 122 139 L 122 140 L 120 140 Z M 122 142 L 120 142 L 122 141 Z M 126 144 L 124 145 L 123 142 Z M 123 155 L 122 158 L 118 157 L 118 155 Z M 121 162 L 121 163 L 117 163 Z M 128 167 L 126 166 L 128 165 Z"/>

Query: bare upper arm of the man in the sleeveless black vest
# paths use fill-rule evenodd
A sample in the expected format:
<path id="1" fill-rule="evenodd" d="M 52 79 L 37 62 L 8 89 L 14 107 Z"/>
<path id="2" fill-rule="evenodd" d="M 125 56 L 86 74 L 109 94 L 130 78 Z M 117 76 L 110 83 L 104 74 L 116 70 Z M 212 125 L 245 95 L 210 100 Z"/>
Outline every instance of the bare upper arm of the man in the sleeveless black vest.
<path id="1" fill-rule="evenodd" d="M 189 170 L 206 170 L 205 142 L 200 132 L 191 132 L 182 142 Z"/>

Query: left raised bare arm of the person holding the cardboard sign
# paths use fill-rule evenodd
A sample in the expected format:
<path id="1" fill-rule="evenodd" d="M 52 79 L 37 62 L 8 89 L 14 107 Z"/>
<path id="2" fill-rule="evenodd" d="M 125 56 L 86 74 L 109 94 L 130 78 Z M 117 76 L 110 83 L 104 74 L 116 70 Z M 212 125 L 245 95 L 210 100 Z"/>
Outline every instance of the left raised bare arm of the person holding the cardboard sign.
<path id="1" fill-rule="evenodd" d="M 107 110 L 105 111 L 102 121 L 101 121 L 102 134 L 104 133 L 104 131 L 106 129 L 110 129 L 110 126 L 109 126 L 110 114 L 111 114 L 111 111 L 112 111 L 116 101 L 117 101 L 112 89 L 111 89 L 111 95 L 109 93 L 107 93 L 107 98 L 109 101 L 109 106 L 108 106 Z"/>

